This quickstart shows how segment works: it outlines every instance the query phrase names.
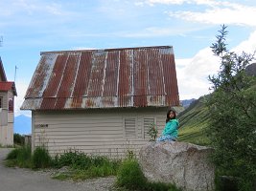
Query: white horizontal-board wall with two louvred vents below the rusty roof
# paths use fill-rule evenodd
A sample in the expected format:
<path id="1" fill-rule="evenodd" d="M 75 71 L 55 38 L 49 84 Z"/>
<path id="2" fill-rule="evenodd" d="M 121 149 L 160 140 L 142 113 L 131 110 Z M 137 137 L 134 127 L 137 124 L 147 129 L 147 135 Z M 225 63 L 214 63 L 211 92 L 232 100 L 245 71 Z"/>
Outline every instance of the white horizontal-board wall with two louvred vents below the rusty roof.
<path id="1" fill-rule="evenodd" d="M 44 145 L 55 156 L 68 150 L 124 158 L 149 141 L 151 122 L 159 133 L 167 108 L 91 109 L 32 113 L 33 149 Z"/>

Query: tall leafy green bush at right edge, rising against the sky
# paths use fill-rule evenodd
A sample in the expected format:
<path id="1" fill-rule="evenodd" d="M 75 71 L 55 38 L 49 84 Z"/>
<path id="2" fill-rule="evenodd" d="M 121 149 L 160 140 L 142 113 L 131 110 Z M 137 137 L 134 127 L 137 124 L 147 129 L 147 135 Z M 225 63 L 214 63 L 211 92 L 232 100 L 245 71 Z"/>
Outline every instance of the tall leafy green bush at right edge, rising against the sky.
<path id="1" fill-rule="evenodd" d="M 207 135 L 215 148 L 212 159 L 219 174 L 237 177 L 240 190 L 252 190 L 256 177 L 255 77 L 245 74 L 253 55 L 231 53 L 222 26 L 213 53 L 221 58 L 217 76 L 209 76 L 214 93 L 208 97 L 210 126 Z"/>

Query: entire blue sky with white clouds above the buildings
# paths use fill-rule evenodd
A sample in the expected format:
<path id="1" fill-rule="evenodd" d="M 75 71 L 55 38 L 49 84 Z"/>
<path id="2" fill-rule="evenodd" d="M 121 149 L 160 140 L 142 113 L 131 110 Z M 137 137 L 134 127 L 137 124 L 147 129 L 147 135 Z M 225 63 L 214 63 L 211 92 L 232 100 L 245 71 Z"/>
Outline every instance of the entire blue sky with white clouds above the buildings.
<path id="1" fill-rule="evenodd" d="M 255 0 L 0 0 L 0 56 L 16 88 L 15 116 L 40 52 L 171 45 L 180 99 L 209 94 L 211 53 L 225 24 L 229 50 L 256 50 Z"/>

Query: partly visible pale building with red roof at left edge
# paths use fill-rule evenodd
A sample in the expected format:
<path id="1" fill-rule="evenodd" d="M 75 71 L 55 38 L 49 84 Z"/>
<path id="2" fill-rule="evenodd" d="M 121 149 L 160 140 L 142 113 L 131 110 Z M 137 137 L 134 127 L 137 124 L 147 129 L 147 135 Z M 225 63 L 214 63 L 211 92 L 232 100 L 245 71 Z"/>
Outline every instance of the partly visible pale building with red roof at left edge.
<path id="1" fill-rule="evenodd" d="M 14 96 L 17 96 L 15 84 L 7 81 L 0 57 L 0 145 L 2 146 L 13 145 Z"/>

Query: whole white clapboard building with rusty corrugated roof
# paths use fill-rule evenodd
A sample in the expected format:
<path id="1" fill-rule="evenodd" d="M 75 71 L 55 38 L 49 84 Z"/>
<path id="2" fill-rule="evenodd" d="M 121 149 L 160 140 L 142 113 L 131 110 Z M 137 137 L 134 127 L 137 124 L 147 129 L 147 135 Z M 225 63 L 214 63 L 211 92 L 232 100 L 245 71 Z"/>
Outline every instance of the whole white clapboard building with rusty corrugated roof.
<path id="1" fill-rule="evenodd" d="M 179 106 L 173 47 L 44 52 L 21 109 L 32 145 L 121 158 Z"/>

